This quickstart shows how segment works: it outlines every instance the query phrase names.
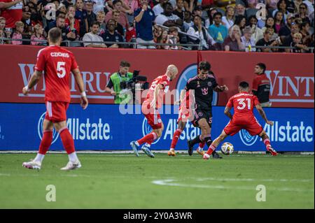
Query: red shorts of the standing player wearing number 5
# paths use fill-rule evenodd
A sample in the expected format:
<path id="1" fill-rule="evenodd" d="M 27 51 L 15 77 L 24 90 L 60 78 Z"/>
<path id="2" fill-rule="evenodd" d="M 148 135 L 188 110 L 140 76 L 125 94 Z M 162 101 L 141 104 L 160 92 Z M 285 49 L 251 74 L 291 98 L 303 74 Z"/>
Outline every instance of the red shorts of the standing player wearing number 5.
<path id="1" fill-rule="evenodd" d="M 62 101 L 46 101 L 45 120 L 57 123 L 66 121 L 66 110 L 69 103 Z"/>

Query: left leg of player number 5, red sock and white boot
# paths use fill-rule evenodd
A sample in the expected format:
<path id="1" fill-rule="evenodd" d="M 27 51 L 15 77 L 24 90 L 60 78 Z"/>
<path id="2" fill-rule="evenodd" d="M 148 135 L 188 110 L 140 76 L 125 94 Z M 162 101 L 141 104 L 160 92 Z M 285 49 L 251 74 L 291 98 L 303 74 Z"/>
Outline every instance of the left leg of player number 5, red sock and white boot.
<path id="1" fill-rule="evenodd" d="M 36 154 L 35 159 L 28 162 L 24 162 L 22 166 L 33 169 L 41 168 L 41 163 L 52 143 L 52 131 L 53 131 L 52 122 L 46 119 L 43 120 L 43 138 L 41 139 L 41 144 L 39 145 L 38 153 Z"/>

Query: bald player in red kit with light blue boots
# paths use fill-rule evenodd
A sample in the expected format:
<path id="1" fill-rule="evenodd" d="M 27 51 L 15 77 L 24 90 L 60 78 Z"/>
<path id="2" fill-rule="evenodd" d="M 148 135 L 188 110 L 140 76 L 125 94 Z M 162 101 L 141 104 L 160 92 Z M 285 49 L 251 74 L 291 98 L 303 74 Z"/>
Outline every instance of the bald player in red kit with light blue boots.
<path id="1" fill-rule="evenodd" d="M 179 73 L 179 70 L 175 65 L 171 64 L 167 66 L 165 75 L 158 76 L 158 78 L 155 78 L 151 84 L 146 100 L 142 103 L 141 111 L 144 113 L 144 116 L 146 116 L 148 124 L 150 124 L 153 131 L 138 141 L 132 141 L 130 143 L 132 150 L 134 150 L 137 157 L 139 157 L 139 146 L 144 143 L 145 144 L 141 147 L 141 150 L 144 151 L 148 157 L 154 157 L 154 154 L 150 151 L 151 143 L 162 136 L 162 131 L 164 129 L 158 109 L 162 106 L 164 94 L 169 90 L 170 81 L 176 78 L 177 73 Z"/>

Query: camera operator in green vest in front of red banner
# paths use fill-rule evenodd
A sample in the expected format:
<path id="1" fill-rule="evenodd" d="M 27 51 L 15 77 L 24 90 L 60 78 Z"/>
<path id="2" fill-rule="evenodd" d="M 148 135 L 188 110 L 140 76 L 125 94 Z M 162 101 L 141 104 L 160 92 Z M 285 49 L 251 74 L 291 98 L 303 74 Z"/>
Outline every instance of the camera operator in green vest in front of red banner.
<path id="1" fill-rule="evenodd" d="M 120 86 L 124 82 L 132 80 L 133 74 L 129 72 L 130 63 L 126 61 L 120 62 L 119 71 L 113 73 L 109 79 L 109 83 L 106 86 L 105 92 L 115 96 L 114 103 L 122 103 L 126 101 L 128 94 L 121 94 L 123 90 Z"/>

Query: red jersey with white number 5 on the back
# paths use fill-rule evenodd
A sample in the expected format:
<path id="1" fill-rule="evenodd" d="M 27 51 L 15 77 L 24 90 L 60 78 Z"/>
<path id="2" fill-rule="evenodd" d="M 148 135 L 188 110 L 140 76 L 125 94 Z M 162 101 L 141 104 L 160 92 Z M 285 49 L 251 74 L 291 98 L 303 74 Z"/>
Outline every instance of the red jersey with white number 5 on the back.
<path id="1" fill-rule="evenodd" d="M 44 71 L 45 101 L 70 102 L 70 73 L 78 68 L 73 53 L 56 45 L 38 51 L 36 71 Z"/>

